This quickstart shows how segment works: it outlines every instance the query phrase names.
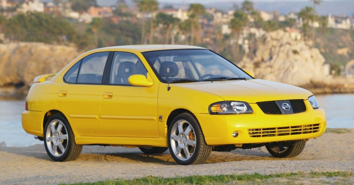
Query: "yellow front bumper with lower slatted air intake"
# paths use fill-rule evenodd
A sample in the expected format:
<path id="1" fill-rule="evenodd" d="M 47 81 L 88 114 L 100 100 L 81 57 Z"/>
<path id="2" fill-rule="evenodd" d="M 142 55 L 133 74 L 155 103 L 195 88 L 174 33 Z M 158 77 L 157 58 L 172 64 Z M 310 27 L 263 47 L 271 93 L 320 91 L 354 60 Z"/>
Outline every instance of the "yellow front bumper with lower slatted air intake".
<path id="1" fill-rule="evenodd" d="M 198 119 L 205 141 L 208 145 L 226 144 L 252 144 L 268 143 L 276 141 L 301 140 L 320 137 L 326 129 L 326 115 L 323 109 L 313 109 L 309 101 L 304 101 L 306 111 L 298 114 L 267 115 L 262 112 L 257 104 L 250 104 L 252 114 L 210 115 L 194 114 Z M 264 135 L 264 137 L 251 137 L 249 129 L 279 128 L 286 132 L 284 127 L 304 126 L 320 124 L 318 131 L 314 133 L 276 134 L 276 136 Z M 274 129 L 273 129 L 274 130 Z M 238 132 L 233 137 L 233 132 Z"/>

